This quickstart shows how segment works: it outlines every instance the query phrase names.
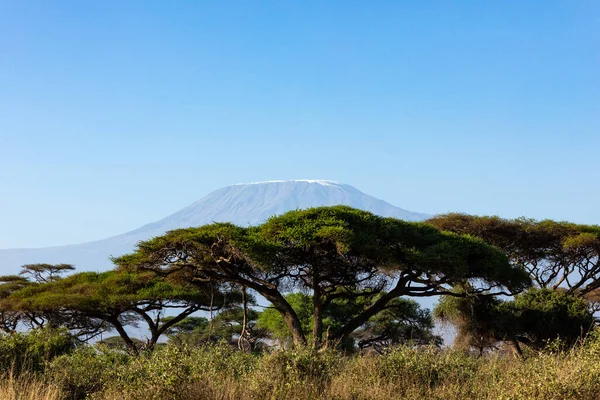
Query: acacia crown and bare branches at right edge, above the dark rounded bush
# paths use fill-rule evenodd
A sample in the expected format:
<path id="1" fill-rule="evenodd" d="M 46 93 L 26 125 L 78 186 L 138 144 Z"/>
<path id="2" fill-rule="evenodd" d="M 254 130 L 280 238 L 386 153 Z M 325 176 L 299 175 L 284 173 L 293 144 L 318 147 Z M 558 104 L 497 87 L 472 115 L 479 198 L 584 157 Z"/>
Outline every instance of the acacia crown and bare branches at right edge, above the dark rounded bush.
<path id="1" fill-rule="evenodd" d="M 466 214 L 440 215 L 427 222 L 497 246 L 540 288 L 564 287 L 577 296 L 600 288 L 600 226 Z"/>

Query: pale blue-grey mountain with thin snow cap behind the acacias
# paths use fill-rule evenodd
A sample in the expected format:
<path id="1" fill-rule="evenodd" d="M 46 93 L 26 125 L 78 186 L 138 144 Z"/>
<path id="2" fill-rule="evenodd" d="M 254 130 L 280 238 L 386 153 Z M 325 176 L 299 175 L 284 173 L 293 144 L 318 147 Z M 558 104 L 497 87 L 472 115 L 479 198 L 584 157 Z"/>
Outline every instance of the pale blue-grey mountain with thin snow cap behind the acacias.
<path id="1" fill-rule="evenodd" d="M 2 274 L 15 273 L 31 263 L 69 263 L 77 270 L 111 268 L 109 256 L 133 250 L 140 240 L 164 232 L 211 222 L 255 225 L 294 209 L 344 204 L 385 217 L 421 221 L 426 214 L 406 211 L 369 196 L 352 186 L 322 180 L 268 181 L 237 184 L 216 190 L 197 202 L 159 221 L 107 239 L 40 249 L 0 250 Z"/>

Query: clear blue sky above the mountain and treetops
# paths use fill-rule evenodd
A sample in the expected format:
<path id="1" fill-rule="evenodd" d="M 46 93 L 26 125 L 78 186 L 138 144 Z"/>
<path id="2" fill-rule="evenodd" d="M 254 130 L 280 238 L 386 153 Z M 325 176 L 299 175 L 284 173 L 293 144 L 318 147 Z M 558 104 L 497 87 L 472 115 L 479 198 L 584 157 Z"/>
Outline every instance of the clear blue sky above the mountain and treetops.
<path id="1" fill-rule="evenodd" d="M 600 2 L 2 1 L 0 248 L 331 179 L 600 224 Z"/>

